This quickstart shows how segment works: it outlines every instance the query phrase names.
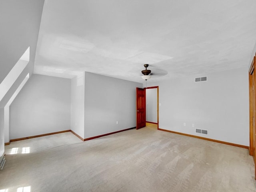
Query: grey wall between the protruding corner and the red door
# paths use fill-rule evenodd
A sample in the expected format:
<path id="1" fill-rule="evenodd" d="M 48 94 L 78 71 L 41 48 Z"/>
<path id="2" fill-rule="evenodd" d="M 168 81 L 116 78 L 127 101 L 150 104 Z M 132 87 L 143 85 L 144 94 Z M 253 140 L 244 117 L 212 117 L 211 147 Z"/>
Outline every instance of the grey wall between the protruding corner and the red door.
<path id="1" fill-rule="evenodd" d="M 86 72 L 84 138 L 135 127 L 136 87 L 142 84 Z"/>

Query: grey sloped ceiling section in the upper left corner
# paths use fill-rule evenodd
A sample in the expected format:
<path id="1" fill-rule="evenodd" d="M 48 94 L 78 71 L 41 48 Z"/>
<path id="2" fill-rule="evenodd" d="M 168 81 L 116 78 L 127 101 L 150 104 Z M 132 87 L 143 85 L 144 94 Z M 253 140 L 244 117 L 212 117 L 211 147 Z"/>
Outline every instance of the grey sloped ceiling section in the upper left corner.
<path id="1" fill-rule="evenodd" d="M 28 47 L 33 72 L 43 6 L 44 0 L 0 0 L 0 83 Z"/>

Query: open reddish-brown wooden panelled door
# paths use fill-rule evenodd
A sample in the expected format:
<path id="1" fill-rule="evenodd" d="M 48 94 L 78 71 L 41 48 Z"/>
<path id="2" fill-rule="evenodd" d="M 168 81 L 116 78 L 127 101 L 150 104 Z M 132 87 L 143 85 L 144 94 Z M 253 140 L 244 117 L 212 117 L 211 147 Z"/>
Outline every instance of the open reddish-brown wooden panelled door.
<path id="1" fill-rule="evenodd" d="M 146 89 L 136 88 L 137 122 L 136 129 L 146 127 Z"/>

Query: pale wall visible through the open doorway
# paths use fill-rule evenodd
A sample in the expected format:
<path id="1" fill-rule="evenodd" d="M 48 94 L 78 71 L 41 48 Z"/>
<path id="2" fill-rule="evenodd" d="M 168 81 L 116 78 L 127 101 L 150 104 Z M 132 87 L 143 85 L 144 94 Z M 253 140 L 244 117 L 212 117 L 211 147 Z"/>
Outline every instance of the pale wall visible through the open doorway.
<path id="1" fill-rule="evenodd" d="M 157 88 L 146 89 L 146 121 L 157 123 Z"/>

